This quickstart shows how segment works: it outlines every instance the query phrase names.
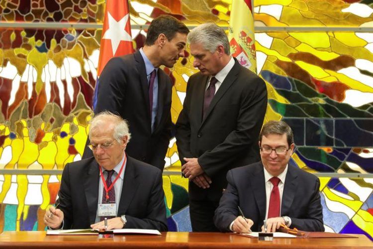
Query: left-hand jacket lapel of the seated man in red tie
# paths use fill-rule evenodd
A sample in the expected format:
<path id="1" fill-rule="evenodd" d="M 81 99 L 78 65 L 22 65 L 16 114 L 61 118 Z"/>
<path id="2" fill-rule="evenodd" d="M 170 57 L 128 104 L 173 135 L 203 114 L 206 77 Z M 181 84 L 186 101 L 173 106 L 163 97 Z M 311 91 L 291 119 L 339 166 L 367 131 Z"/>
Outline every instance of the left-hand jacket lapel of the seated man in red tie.
<path id="1" fill-rule="evenodd" d="M 259 162 L 258 164 L 253 165 L 253 167 L 257 167 L 257 169 L 252 175 L 251 186 L 260 213 L 260 221 L 263 221 L 266 217 L 266 183 L 264 179 L 263 164 Z"/>

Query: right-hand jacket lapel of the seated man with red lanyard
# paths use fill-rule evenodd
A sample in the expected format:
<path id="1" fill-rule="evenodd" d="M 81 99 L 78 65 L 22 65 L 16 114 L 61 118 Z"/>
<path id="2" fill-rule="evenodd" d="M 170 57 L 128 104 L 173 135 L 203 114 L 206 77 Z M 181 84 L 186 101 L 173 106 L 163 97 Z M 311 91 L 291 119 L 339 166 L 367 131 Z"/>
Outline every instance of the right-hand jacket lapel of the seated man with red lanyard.
<path id="1" fill-rule="evenodd" d="M 122 193 L 120 195 L 118 215 L 124 215 L 133 199 L 137 188 L 139 187 L 139 182 L 136 182 L 135 179 L 137 173 L 135 170 L 135 165 L 133 159 L 127 156 L 127 165 L 126 170 L 124 171 L 124 179 L 122 186 Z"/>

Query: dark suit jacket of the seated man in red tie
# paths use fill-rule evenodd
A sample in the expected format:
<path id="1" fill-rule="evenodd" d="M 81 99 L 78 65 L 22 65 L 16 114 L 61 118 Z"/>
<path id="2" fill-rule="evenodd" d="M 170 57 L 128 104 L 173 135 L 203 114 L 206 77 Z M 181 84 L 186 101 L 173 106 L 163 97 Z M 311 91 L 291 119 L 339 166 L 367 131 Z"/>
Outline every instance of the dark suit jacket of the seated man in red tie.
<path id="1" fill-rule="evenodd" d="M 287 166 L 281 200 L 281 215 L 291 219 L 290 228 L 324 231 L 319 179 L 295 166 Z M 260 232 L 266 216 L 266 186 L 262 162 L 232 169 L 227 174 L 228 187 L 215 211 L 215 226 L 230 232 L 229 225 L 239 216 L 253 220 L 251 230 Z"/>

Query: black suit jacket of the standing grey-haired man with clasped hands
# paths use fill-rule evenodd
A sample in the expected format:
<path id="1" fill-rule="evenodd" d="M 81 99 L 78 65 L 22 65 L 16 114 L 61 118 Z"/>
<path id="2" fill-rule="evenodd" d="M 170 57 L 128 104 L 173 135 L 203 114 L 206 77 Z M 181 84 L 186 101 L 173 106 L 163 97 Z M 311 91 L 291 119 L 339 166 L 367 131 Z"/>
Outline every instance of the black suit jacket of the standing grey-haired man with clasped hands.
<path id="1" fill-rule="evenodd" d="M 218 202 L 227 185 L 227 171 L 260 160 L 258 137 L 267 108 L 267 88 L 235 59 L 202 120 L 207 80 L 200 72 L 189 78 L 176 123 L 176 143 L 182 163 L 183 157 L 197 157 L 212 180 L 208 189 L 190 183 L 190 199 Z"/>

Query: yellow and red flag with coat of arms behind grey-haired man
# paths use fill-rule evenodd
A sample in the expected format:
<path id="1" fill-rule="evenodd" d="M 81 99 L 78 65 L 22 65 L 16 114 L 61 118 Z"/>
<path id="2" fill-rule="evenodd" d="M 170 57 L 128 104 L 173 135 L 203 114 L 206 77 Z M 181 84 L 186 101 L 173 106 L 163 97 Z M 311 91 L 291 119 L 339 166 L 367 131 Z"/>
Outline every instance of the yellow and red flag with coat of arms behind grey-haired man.
<path id="1" fill-rule="evenodd" d="M 233 0 L 229 21 L 229 44 L 232 56 L 257 73 L 254 16 L 251 0 Z"/>

